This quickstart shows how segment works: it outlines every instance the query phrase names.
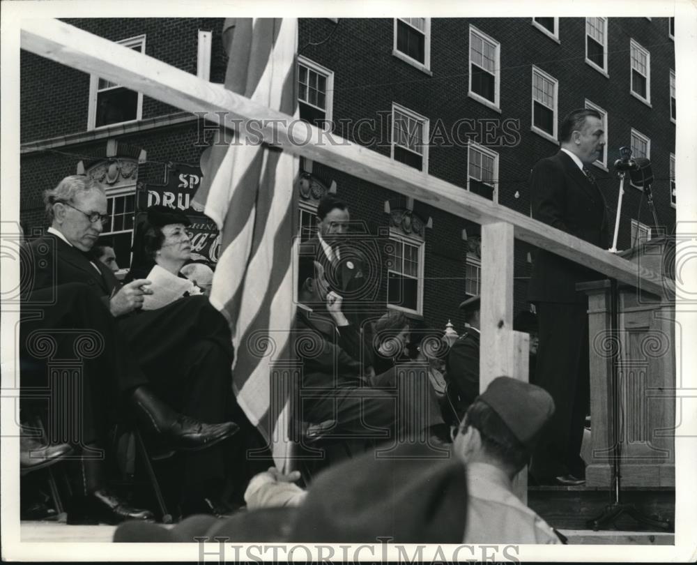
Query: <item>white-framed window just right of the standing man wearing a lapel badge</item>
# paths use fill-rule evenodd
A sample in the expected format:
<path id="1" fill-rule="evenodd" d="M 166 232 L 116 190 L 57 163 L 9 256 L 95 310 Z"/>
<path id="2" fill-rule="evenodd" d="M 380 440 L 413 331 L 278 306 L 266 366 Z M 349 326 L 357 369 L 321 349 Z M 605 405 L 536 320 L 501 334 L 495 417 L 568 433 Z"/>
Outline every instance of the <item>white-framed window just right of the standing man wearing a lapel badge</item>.
<path id="1" fill-rule="evenodd" d="M 390 231 L 388 307 L 421 315 L 424 294 L 423 240 Z"/>

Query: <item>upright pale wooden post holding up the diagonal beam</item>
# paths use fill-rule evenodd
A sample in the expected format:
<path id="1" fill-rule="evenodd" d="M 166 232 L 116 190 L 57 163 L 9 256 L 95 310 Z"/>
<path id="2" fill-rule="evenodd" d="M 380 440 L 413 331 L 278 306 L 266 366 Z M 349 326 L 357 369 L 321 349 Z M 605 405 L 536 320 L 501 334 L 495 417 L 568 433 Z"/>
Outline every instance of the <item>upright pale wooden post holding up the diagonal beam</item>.
<path id="1" fill-rule="evenodd" d="M 480 312 L 480 392 L 506 375 L 528 382 L 527 333 L 513 331 L 514 228 L 505 222 L 482 226 L 482 310 Z M 513 481 L 528 502 L 528 469 Z"/>

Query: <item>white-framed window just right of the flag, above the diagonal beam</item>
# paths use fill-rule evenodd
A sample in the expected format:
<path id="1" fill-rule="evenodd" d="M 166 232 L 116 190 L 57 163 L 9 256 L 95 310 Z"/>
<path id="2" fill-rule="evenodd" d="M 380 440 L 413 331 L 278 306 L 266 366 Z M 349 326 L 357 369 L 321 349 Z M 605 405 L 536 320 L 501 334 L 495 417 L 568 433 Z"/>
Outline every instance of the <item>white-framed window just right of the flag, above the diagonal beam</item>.
<path id="1" fill-rule="evenodd" d="M 330 128 L 334 100 L 334 72 L 307 57 L 298 56 L 300 119 Z"/>

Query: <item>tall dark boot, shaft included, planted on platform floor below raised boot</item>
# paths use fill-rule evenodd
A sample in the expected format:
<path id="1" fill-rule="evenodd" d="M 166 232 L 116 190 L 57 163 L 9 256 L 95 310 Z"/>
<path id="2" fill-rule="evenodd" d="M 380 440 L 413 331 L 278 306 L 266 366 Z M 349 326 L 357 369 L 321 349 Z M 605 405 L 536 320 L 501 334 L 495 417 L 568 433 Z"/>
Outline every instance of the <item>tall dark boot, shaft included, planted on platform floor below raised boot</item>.
<path id="1" fill-rule="evenodd" d="M 72 470 L 72 498 L 68 507 L 68 524 L 114 525 L 124 520 L 154 519 L 151 511 L 133 508 L 106 487 L 103 460 L 83 456 Z"/>

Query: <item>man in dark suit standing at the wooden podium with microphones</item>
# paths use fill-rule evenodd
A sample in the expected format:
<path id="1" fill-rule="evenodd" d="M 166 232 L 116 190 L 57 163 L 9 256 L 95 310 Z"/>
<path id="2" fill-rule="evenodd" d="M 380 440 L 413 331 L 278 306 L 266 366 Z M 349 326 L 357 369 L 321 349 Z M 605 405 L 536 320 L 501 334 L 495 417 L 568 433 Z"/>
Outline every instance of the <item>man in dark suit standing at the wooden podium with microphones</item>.
<path id="1" fill-rule="evenodd" d="M 533 218 L 607 249 L 605 199 L 588 170 L 605 145 L 602 116 L 573 110 L 562 121 L 559 138 L 560 151 L 533 167 Z M 530 465 L 540 484 L 585 482 L 580 453 L 590 399 L 588 298 L 576 292 L 576 283 L 599 278 L 580 264 L 537 250 L 528 299 L 537 308 L 539 351 L 530 379 L 549 391 L 556 405 Z"/>

